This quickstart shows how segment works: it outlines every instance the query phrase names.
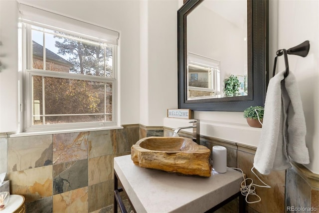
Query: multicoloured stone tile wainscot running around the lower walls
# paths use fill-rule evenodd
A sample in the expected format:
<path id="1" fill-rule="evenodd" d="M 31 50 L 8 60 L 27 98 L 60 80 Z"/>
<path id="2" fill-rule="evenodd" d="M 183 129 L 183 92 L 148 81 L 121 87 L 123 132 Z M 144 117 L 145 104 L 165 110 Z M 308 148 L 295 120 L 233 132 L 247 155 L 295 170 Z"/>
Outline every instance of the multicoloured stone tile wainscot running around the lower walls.
<path id="1" fill-rule="evenodd" d="M 130 154 L 131 146 L 140 138 L 171 136 L 172 130 L 136 124 L 118 130 L 7 135 L 0 134 L 0 173 L 7 171 L 11 194 L 25 197 L 27 213 L 111 213 L 113 158 Z M 241 168 L 248 178 L 261 185 L 251 172 L 256 148 L 204 136 L 201 144 L 209 149 L 214 145 L 225 146 L 227 166 Z M 298 205 L 317 208 L 309 213 L 319 212 L 318 175 L 300 165 L 287 172 L 258 175 L 272 188 L 257 188 L 261 202 L 248 204 L 248 213 L 292 212 L 287 207 Z M 249 197 L 248 201 L 256 199 Z M 218 213 L 237 212 L 237 207 L 234 200 Z"/>

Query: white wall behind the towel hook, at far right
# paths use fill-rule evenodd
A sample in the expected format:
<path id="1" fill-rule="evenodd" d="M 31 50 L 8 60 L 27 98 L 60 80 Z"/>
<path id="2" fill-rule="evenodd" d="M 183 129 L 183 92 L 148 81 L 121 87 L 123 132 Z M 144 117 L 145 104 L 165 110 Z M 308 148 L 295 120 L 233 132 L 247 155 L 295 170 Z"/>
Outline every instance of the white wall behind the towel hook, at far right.
<path id="1" fill-rule="evenodd" d="M 289 55 L 288 60 L 297 78 L 307 123 L 311 163 L 305 166 L 319 174 L 319 1 L 279 0 L 278 48 L 288 49 L 305 40 L 310 41 L 308 56 Z"/>

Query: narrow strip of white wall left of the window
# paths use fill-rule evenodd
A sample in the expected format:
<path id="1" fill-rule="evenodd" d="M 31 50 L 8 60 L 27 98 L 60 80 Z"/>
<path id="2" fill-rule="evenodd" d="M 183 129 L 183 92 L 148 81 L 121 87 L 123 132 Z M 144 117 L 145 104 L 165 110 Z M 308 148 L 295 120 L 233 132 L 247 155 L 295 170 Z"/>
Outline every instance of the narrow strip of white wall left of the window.
<path id="1" fill-rule="evenodd" d="M 18 127 L 17 12 L 14 1 L 0 1 L 0 132 Z"/>

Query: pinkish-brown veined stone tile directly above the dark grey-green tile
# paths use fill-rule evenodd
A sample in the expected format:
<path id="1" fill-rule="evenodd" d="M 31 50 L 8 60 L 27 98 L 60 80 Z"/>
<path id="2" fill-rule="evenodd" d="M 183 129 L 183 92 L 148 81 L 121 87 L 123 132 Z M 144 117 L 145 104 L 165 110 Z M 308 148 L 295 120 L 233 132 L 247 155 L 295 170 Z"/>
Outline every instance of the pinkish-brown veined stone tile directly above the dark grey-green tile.
<path id="1" fill-rule="evenodd" d="M 88 133 L 53 135 L 53 164 L 88 158 Z"/>

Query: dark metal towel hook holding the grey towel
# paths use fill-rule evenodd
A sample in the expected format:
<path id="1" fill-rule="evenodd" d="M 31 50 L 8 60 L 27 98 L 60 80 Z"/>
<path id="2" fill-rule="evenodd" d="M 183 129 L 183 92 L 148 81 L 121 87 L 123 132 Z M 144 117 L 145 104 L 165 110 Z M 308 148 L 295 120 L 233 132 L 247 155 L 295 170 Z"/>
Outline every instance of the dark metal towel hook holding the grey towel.
<path id="1" fill-rule="evenodd" d="M 286 49 L 279 49 L 276 52 L 276 57 L 275 57 L 275 61 L 274 61 L 274 69 L 273 69 L 273 76 L 276 74 L 276 64 L 277 64 L 277 57 L 278 56 L 282 56 L 284 55 L 285 58 L 285 66 L 286 66 L 286 73 L 285 73 L 285 78 L 288 76 L 289 74 L 289 64 L 288 64 L 288 54 L 290 55 L 299 55 L 302 57 L 306 57 L 309 53 L 309 49 L 310 49 L 310 43 L 309 40 L 304 41 L 301 44 L 298 44 L 297 46 L 294 46 L 292 48 L 289 48 L 288 50 Z"/>

